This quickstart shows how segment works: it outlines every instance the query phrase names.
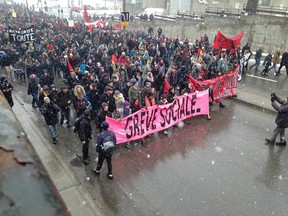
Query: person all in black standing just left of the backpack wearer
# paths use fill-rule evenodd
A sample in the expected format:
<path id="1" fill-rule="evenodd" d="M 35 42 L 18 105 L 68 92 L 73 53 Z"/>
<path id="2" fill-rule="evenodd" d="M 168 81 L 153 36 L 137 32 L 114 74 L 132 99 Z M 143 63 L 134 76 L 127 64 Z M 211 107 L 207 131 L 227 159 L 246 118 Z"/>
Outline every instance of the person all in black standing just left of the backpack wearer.
<path id="1" fill-rule="evenodd" d="M 82 157 L 80 155 L 77 156 L 82 159 L 84 164 L 89 164 L 89 140 L 92 139 L 90 110 L 86 109 L 80 118 L 78 136 L 82 143 Z"/>

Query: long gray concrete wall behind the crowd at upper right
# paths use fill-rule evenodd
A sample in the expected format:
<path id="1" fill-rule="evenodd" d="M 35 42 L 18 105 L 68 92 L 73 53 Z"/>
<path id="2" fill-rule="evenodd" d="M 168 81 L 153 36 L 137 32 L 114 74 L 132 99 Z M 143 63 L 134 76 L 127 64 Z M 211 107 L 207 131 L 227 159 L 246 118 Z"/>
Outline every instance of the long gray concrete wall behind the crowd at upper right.
<path id="1" fill-rule="evenodd" d="M 137 20 L 130 23 L 132 29 L 142 28 L 147 30 L 150 25 L 154 26 L 156 31 L 159 26 L 163 30 L 163 34 L 167 37 L 176 38 L 178 35 L 180 40 L 189 38 L 195 41 L 200 35 L 207 34 L 210 41 L 213 41 L 217 31 L 221 31 L 228 37 L 235 36 L 243 31 L 245 34 L 242 44 L 249 41 L 252 49 L 255 50 L 260 45 L 264 47 L 265 52 L 279 47 L 282 51 L 288 49 L 288 18 L 270 17 L 270 16 L 242 16 L 240 19 L 205 16 L 205 20 L 184 20 L 166 21 L 155 19 L 153 22 Z"/>

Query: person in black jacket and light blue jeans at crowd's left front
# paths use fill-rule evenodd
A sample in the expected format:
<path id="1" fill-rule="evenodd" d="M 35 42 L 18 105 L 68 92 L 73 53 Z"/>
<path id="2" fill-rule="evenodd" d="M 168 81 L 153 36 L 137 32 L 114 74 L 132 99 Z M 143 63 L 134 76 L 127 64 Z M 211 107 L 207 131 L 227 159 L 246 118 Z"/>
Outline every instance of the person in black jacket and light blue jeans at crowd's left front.
<path id="1" fill-rule="evenodd" d="M 58 123 L 58 112 L 60 111 L 60 108 L 57 104 L 51 102 L 49 97 L 44 97 L 43 101 L 44 104 L 40 108 L 40 112 L 44 116 L 45 122 L 48 125 L 53 144 L 57 144 L 56 124 Z"/>

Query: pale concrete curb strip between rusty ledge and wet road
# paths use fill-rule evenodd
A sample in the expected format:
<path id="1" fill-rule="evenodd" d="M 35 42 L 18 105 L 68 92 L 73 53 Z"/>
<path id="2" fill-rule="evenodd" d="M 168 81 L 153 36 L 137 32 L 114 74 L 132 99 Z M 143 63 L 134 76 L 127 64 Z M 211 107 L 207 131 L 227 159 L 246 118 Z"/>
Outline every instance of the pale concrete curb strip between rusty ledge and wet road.
<path id="1" fill-rule="evenodd" d="M 61 155 L 51 147 L 51 143 L 37 128 L 17 94 L 14 97 L 14 103 L 13 111 L 15 115 L 33 144 L 50 178 L 56 185 L 71 215 L 104 215 L 97 202 L 93 200 L 86 188 L 82 187 L 79 180 L 64 163 Z"/>

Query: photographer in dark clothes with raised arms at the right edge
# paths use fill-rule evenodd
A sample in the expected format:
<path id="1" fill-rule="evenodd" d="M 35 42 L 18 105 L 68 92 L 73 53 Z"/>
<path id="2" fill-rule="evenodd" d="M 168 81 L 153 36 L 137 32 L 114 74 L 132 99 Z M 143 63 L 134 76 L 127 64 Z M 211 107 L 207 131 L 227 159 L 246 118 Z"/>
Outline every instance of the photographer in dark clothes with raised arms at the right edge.
<path id="1" fill-rule="evenodd" d="M 278 111 L 275 123 L 277 127 L 273 131 L 270 139 L 265 139 L 266 145 L 274 145 L 276 138 L 280 135 L 280 142 L 276 142 L 278 146 L 286 146 L 285 128 L 288 127 L 288 98 L 281 100 L 275 93 L 271 94 L 272 106 Z M 278 105 L 280 104 L 280 106 Z"/>

